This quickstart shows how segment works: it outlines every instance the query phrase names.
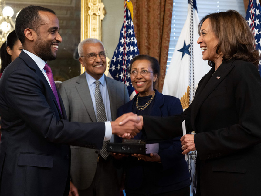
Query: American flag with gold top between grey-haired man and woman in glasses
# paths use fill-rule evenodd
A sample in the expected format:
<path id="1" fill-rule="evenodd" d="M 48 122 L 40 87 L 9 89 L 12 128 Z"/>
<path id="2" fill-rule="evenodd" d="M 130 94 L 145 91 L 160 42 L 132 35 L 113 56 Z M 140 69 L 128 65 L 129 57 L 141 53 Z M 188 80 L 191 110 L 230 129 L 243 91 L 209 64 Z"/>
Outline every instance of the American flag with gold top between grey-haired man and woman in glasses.
<path id="1" fill-rule="evenodd" d="M 131 60 L 139 55 L 139 49 L 134 34 L 130 9 L 132 10 L 131 2 L 125 1 L 124 20 L 120 31 L 120 39 L 110 63 L 109 73 L 113 79 L 127 86 L 130 98 L 132 99 L 136 95 L 136 91 L 131 84 L 129 66 Z"/>

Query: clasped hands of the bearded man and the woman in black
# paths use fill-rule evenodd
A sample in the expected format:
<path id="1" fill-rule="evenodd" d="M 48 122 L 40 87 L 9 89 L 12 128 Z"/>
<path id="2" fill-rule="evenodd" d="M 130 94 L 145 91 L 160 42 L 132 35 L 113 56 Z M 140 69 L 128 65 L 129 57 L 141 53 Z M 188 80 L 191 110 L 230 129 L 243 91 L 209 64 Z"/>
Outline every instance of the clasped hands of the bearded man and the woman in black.
<path id="1" fill-rule="evenodd" d="M 112 134 L 116 134 L 122 138 L 131 139 L 142 129 L 143 117 L 130 112 L 121 115 L 115 121 L 110 123 Z"/>

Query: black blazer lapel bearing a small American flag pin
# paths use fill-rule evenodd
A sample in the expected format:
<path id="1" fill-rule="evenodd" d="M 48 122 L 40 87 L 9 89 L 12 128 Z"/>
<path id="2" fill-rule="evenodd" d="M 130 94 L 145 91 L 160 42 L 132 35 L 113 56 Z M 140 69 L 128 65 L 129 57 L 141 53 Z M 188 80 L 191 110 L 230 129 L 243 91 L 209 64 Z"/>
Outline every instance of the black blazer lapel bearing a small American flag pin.
<path id="1" fill-rule="evenodd" d="M 191 110 L 192 125 L 194 125 L 196 116 L 203 102 L 206 100 L 206 98 L 208 98 L 212 91 L 214 91 L 215 88 L 225 79 L 225 77 L 235 66 L 233 65 L 233 61 L 234 60 L 223 62 L 213 75 L 213 68 L 206 75 L 193 100 L 193 107 Z"/>

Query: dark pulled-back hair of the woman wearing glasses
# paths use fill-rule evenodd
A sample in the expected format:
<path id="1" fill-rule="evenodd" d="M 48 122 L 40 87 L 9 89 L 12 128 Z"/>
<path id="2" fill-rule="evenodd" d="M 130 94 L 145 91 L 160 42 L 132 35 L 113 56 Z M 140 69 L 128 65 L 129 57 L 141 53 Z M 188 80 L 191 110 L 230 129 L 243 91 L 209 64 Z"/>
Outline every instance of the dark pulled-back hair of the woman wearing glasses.
<path id="1" fill-rule="evenodd" d="M 150 63 L 151 63 L 151 68 L 153 70 L 153 73 L 154 75 L 157 75 L 157 79 L 160 75 L 160 64 L 158 62 L 158 60 L 154 57 L 151 57 L 149 55 L 146 55 L 146 54 L 140 54 L 140 55 L 137 55 L 136 57 L 134 57 L 132 60 L 131 60 L 131 65 L 129 67 L 129 71 L 131 72 L 131 67 L 132 67 L 132 64 L 136 61 L 136 60 L 148 60 Z M 155 82 L 153 82 L 153 88 L 155 86 Z"/>

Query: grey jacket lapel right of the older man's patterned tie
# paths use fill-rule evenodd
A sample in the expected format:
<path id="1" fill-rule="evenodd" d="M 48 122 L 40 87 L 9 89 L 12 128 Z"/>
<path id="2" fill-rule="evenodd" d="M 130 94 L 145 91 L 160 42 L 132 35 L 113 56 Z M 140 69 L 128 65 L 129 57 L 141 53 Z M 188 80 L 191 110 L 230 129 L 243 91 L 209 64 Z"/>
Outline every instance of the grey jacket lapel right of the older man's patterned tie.
<path id="1" fill-rule="evenodd" d="M 116 119 L 116 113 L 117 113 L 117 88 L 115 85 L 113 85 L 114 81 L 113 80 L 108 80 L 107 76 L 105 76 L 105 81 L 106 81 L 106 86 L 109 94 L 109 99 L 110 99 L 110 112 L 111 112 L 111 119 L 115 120 Z"/>

